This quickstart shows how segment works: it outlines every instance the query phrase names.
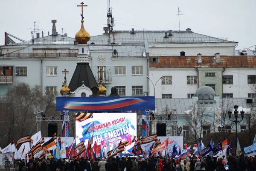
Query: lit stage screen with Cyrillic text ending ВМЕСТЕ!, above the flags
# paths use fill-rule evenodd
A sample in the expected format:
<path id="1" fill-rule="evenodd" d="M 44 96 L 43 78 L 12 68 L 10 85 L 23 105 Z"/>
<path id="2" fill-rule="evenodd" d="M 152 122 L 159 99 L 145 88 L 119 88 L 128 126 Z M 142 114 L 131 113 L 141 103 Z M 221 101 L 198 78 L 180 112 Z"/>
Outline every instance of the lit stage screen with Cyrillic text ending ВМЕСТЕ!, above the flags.
<path id="1" fill-rule="evenodd" d="M 104 145 L 108 139 L 110 147 L 120 141 L 129 141 L 128 146 L 133 147 L 136 136 L 136 113 L 76 114 L 76 143 L 84 141 L 87 144 L 93 137 L 97 145 Z"/>

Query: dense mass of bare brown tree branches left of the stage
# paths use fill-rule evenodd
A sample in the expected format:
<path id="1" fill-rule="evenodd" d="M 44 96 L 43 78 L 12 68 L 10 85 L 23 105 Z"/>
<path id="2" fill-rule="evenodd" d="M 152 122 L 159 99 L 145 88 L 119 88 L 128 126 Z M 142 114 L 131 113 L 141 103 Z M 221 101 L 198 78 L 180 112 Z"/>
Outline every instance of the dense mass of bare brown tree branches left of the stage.
<path id="1" fill-rule="evenodd" d="M 38 109 L 46 111 L 55 105 L 52 96 L 42 95 L 40 87 L 30 87 L 18 83 L 9 88 L 5 98 L 1 98 L 0 124 L 1 145 L 12 139 L 34 134 L 36 130 L 35 113 Z"/>

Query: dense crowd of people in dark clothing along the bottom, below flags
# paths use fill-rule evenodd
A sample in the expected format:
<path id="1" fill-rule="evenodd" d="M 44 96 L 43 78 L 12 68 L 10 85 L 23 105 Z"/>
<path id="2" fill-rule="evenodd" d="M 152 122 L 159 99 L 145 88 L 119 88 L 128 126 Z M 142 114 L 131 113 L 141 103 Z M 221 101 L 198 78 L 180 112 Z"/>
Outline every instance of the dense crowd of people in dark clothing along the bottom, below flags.
<path id="1" fill-rule="evenodd" d="M 29 159 L 16 160 L 19 171 L 256 171 L 256 157 L 233 157 L 231 154 L 223 157 L 192 155 L 185 159 L 166 157 L 122 157 L 111 159 L 104 157 L 93 161 L 91 158 L 79 160 Z"/>

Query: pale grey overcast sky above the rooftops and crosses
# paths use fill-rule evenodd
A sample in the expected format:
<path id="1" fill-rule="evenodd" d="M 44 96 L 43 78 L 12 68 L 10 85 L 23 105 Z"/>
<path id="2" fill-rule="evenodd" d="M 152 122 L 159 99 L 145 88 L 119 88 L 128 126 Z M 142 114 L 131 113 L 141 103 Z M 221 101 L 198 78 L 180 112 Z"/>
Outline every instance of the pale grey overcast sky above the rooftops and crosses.
<path id="1" fill-rule="evenodd" d="M 256 0 L 110 0 L 114 30 L 180 30 L 239 42 L 237 49 L 256 45 Z M 44 35 L 57 20 L 59 34 L 74 37 L 81 27 L 79 0 L 0 0 L 0 45 L 4 32 L 31 39 L 34 21 Z M 91 36 L 103 33 L 107 0 L 86 0 L 84 27 Z M 41 31 L 40 31 L 41 32 Z"/>

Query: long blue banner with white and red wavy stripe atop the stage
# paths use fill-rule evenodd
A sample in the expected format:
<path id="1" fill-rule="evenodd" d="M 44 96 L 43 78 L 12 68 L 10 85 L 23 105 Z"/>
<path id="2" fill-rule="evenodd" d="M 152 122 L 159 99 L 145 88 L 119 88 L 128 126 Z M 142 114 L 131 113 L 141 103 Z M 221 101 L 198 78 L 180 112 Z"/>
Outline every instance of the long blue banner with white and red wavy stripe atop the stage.
<path id="1" fill-rule="evenodd" d="M 57 97 L 57 111 L 154 110 L 154 96 Z"/>

